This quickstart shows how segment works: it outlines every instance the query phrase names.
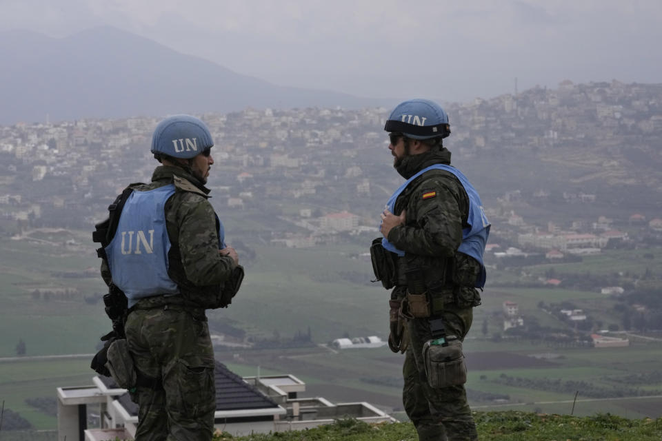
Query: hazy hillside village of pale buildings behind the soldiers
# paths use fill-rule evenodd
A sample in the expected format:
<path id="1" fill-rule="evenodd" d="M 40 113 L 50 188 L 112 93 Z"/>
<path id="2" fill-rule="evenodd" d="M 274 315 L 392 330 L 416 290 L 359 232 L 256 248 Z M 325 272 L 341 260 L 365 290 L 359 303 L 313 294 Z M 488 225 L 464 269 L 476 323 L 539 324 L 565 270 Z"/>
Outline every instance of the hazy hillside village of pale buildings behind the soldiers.
<path id="1" fill-rule="evenodd" d="M 534 88 L 450 104 L 447 109 L 450 149 L 463 163 L 495 150 L 508 155 L 571 150 L 577 162 L 596 161 L 601 154 L 601 163 L 593 165 L 603 176 L 580 179 L 614 187 L 645 185 L 657 196 L 662 192 L 659 174 L 637 162 L 643 156 L 643 163 L 653 169 L 662 163 L 656 148 L 662 134 L 660 85 L 563 81 L 556 90 Z M 308 247 L 342 240 L 338 236 L 346 233 L 376 232 L 381 201 L 399 183 L 381 131 L 386 116 L 385 108 L 247 109 L 203 115 L 217 144 L 217 170 L 210 179 L 214 206 L 220 212 L 230 209 L 250 216 L 267 211 L 279 216 L 271 231 L 258 233 L 274 245 Z M 3 216 L 19 228 L 89 228 L 103 217 L 110 198 L 123 185 L 149 178 L 156 165 L 148 151 L 150 135 L 158 120 L 0 127 Z M 656 236 L 662 233 L 659 206 L 641 204 L 648 213 L 632 210 L 620 218 L 605 209 L 587 218 L 576 216 L 579 208 L 604 207 L 603 195 L 577 191 L 572 182 L 565 188 L 559 183 L 557 189 L 505 186 L 513 184 L 481 192 L 492 232 L 503 238 L 493 241 L 497 257 L 525 256 L 522 249 L 544 250 L 548 259 L 596 253 L 614 241 L 636 240 L 621 230 L 623 225 L 639 225 Z M 565 216 L 565 225 L 527 218 L 519 211 L 523 204 L 552 200 L 572 213 Z M 15 233 L 3 229 L 5 234 Z M 242 234 L 254 232 L 235 232 L 240 238 Z"/>

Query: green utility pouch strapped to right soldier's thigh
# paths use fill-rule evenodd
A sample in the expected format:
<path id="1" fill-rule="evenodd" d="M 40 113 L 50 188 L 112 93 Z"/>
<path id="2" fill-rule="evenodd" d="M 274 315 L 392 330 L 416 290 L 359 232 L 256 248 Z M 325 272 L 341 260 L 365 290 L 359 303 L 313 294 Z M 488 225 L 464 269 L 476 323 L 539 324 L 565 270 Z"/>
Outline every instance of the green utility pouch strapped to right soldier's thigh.
<path id="1" fill-rule="evenodd" d="M 454 336 L 425 342 L 423 364 L 425 377 L 432 389 L 461 386 L 467 382 L 467 365 L 462 353 L 462 342 Z"/>

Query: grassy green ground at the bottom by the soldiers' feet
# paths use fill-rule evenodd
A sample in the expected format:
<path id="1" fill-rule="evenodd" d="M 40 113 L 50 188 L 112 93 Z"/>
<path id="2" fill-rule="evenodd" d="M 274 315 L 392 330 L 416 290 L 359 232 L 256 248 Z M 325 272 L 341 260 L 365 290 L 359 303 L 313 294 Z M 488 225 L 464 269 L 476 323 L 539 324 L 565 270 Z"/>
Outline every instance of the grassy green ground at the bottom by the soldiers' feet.
<path id="1" fill-rule="evenodd" d="M 662 418 L 628 420 L 609 414 L 576 418 L 525 412 L 475 413 L 481 441 L 648 441 L 660 440 Z M 335 424 L 308 431 L 280 432 L 232 438 L 217 434 L 216 441 L 415 441 L 414 426 L 407 423 L 369 425 L 357 420 L 337 420 Z"/>

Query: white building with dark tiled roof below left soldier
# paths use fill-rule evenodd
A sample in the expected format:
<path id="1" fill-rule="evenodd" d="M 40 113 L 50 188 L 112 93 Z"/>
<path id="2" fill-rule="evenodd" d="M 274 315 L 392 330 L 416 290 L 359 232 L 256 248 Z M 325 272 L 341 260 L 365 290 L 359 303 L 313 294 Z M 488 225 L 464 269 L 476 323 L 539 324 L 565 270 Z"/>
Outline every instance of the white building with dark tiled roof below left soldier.
<path id="1" fill-rule="evenodd" d="M 324 398 L 299 398 L 305 383 L 292 375 L 241 378 L 216 362 L 217 408 L 214 426 L 231 435 L 301 430 L 339 418 L 396 422 L 368 402 L 334 404 Z M 69 441 L 134 438 L 138 406 L 112 378 L 95 376 L 93 385 L 57 388 L 58 439 Z M 87 427 L 88 405 L 99 405 L 100 427 Z"/>

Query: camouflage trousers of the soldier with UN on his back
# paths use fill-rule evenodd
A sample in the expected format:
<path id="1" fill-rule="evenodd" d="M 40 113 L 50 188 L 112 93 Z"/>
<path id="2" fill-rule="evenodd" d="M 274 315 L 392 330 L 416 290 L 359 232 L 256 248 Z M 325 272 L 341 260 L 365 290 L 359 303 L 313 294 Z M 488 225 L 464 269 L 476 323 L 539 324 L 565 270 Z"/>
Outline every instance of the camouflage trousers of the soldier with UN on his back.
<path id="1" fill-rule="evenodd" d="M 163 389 L 138 387 L 132 393 L 139 405 L 136 440 L 211 440 L 214 350 L 204 311 L 136 309 L 125 331 L 136 369 L 163 382 Z"/>

